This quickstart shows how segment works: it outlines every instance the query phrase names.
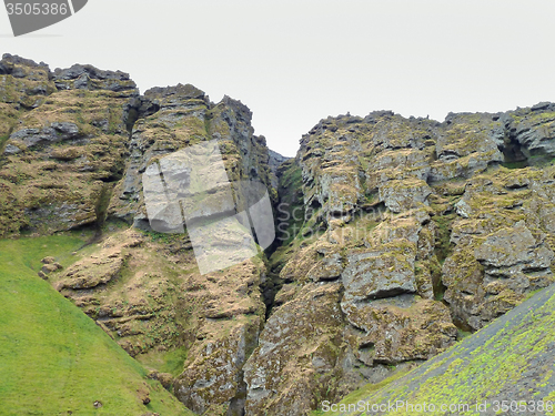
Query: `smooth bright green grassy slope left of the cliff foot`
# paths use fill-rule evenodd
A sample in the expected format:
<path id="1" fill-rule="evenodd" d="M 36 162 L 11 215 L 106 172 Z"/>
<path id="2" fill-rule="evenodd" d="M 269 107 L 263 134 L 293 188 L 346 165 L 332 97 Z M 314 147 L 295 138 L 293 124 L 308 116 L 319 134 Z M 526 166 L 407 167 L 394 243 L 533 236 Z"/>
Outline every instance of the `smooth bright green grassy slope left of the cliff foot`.
<path id="1" fill-rule="evenodd" d="M 71 262 L 69 236 L 0 241 L 0 414 L 190 413 L 80 310 L 37 275 L 40 258 Z M 143 405 L 139 392 L 150 390 Z M 99 409 L 93 403 L 100 400 Z"/>

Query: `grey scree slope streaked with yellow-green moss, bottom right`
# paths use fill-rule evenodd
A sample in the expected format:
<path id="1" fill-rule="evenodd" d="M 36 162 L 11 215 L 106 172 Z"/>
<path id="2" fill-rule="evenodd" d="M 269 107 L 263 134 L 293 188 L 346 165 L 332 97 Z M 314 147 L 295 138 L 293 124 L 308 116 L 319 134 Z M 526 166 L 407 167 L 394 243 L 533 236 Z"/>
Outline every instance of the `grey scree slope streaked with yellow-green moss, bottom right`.
<path id="1" fill-rule="evenodd" d="M 405 400 L 417 405 L 475 404 L 487 400 L 487 413 L 425 413 L 426 415 L 495 415 L 494 400 L 552 400 L 555 404 L 555 285 L 539 292 L 487 327 L 398 379 L 367 385 L 343 399 L 371 404 Z M 379 388 L 376 388 L 379 387 Z M 555 405 L 554 405 L 555 407 Z M 317 415 L 336 413 L 317 412 Z M 364 415 L 360 412 L 339 413 Z M 385 413 L 421 415 L 418 412 Z M 532 412 L 526 415 L 554 415 Z M 382 413 L 369 413 L 382 415 Z"/>

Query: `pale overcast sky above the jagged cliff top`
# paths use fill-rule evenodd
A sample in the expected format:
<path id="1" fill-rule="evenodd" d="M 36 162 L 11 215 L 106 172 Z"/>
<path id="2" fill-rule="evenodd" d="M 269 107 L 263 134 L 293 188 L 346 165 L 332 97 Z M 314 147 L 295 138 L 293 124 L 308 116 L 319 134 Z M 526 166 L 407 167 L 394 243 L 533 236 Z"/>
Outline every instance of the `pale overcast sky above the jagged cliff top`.
<path id="1" fill-rule="evenodd" d="M 253 112 L 292 156 L 327 115 L 393 110 L 443 121 L 555 101 L 553 0 L 89 0 L 0 52 L 129 72 L 141 92 L 192 83 Z"/>

